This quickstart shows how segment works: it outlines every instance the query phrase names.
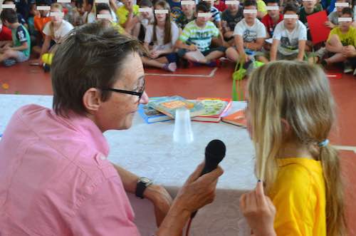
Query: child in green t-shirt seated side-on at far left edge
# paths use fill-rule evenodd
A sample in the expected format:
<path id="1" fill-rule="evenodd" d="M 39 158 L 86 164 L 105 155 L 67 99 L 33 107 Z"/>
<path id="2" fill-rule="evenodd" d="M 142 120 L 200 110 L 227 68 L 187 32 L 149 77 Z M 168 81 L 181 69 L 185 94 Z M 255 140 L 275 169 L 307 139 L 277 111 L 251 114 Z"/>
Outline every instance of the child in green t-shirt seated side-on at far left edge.
<path id="1" fill-rule="evenodd" d="M 30 57 L 31 39 L 25 26 L 19 23 L 14 9 L 3 9 L 0 14 L 2 23 L 11 29 L 12 43 L 0 48 L 0 63 L 12 66 L 16 62 L 27 61 Z"/>

